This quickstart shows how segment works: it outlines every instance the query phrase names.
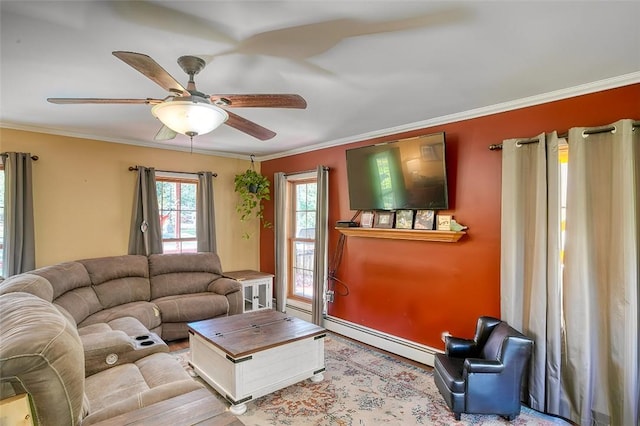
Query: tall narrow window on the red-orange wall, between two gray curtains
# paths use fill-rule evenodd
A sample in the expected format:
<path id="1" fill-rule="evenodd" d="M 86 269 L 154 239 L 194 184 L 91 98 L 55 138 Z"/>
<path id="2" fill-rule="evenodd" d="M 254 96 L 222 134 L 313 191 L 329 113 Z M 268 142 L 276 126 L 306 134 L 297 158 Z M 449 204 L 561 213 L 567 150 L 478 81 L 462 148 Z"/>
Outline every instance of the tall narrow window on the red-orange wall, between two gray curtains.
<path id="1" fill-rule="evenodd" d="M 316 237 L 315 178 L 300 178 L 289 182 L 290 227 L 289 297 L 309 302 L 313 297 L 313 259 Z"/>

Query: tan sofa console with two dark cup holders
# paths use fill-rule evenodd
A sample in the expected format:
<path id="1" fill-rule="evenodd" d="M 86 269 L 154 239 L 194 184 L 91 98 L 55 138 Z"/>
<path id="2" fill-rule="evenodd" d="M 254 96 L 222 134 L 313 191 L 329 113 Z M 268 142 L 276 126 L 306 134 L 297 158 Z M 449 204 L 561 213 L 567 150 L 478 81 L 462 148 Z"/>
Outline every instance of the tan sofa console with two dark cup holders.
<path id="1" fill-rule="evenodd" d="M 169 352 L 169 347 L 155 333 L 128 336 L 112 330 L 80 336 L 84 348 L 85 377 L 116 365 L 135 362 L 156 352 Z"/>

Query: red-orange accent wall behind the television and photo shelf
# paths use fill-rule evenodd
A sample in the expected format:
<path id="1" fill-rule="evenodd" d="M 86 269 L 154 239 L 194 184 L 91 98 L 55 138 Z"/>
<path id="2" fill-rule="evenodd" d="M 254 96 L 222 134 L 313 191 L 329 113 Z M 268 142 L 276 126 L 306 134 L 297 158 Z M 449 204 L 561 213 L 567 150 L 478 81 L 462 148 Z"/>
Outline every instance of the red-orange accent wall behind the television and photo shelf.
<path id="1" fill-rule="evenodd" d="M 570 127 L 598 126 L 621 118 L 640 119 L 640 84 L 561 101 L 439 125 L 393 136 L 264 161 L 262 173 L 329 172 L 329 259 L 348 220 L 345 150 L 434 132 L 446 132 L 449 206 L 469 227 L 458 243 L 348 237 L 329 314 L 365 327 L 443 348 L 440 335 L 471 336 L 480 315 L 500 315 L 501 154 L 488 146 L 504 139 Z M 376 129 L 371 129 L 376 130 Z M 273 203 L 265 205 L 273 222 Z M 274 272 L 273 230 L 260 236 L 260 266 Z"/>

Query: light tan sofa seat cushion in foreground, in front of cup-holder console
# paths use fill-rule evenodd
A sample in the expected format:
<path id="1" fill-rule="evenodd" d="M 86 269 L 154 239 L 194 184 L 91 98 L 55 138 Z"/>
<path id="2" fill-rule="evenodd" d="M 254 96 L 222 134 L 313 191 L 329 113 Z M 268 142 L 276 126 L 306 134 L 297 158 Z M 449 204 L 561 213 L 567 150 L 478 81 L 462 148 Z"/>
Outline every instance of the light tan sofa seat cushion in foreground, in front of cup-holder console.
<path id="1" fill-rule="evenodd" d="M 149 355 L 86 378 L 91 412 L 82 424 L 93 424 L 202 387 L 173 356 Z"/>

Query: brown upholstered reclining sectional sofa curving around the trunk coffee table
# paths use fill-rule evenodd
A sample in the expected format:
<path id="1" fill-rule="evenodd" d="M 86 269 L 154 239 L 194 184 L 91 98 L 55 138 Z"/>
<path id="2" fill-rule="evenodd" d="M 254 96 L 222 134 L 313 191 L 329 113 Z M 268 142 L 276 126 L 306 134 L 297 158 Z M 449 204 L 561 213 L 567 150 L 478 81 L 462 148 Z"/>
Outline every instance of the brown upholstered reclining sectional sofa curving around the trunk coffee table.
<path id="1" fill-rule="evenodd" d="M 163 339 L 240 313 L 241 303 L 240 283 L 222 276 L 213 253 L 86 259 L 13 276 L 0 283 L 0 397 L 28 393 L 37 424 L 92 425 L 201 396 Z M 204 415 L 224 412 L 215 402 Z"/>

